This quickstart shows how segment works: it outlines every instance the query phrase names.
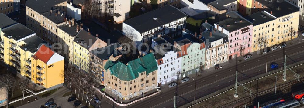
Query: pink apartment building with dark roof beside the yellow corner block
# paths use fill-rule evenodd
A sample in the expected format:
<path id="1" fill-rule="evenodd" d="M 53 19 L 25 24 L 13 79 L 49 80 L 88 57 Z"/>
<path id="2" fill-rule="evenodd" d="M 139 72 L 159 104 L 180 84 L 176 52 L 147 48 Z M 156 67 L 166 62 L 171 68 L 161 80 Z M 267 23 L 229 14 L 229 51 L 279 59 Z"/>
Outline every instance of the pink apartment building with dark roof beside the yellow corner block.
<path id="1" fill-rule="evenodd" d="M 251 52 L 253 24 L 234 11 L 228 12 L 229 18 L 214 24 L 219 30 L 228 35 L 228 57 L 234 59 L 240 56 L 240 48 L 244 49 L 242 55 Z"/>

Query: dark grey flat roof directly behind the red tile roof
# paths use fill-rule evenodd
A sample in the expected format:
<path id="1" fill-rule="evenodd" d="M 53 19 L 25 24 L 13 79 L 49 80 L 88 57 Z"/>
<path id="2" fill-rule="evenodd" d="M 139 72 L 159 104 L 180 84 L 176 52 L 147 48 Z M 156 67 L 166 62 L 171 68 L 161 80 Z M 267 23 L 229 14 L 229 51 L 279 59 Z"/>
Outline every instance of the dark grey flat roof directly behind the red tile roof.
<path id="1" fill-rule="evenodd" d="M 24 40 L 26 43 L 25 45 L 20 46 L 21 49 L 24 51 L 30 51 L 31 53 L 34 53 L 38 50 L 41 44 L 46 44 L 46 41 L 43 41 L 43 39 L 39 38 L 38 36 L 32 36 Z"/>

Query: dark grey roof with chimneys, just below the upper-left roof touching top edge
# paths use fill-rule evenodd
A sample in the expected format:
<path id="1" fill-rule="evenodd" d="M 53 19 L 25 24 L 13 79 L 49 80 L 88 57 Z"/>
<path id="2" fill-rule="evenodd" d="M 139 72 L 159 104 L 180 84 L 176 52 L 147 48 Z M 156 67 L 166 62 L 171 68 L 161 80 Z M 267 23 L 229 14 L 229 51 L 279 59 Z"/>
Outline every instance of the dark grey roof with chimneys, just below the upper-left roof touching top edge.
<path id="1" fill-rule="evenodd" d="M 60 14 L 58 14 L 58 11 Z M 44 17 L 48 18 L 49 20 L 51 20 L 52 22 L 54 22 L 55 24 L 60 24 L 60 23 L 64 22 L 65 18 L 67 18 L 66 17 L 67 14 L 64 13 L 59 8 L 52 10 L 52 13 L 50 11 L 44 12 L 42 15 Z"/>

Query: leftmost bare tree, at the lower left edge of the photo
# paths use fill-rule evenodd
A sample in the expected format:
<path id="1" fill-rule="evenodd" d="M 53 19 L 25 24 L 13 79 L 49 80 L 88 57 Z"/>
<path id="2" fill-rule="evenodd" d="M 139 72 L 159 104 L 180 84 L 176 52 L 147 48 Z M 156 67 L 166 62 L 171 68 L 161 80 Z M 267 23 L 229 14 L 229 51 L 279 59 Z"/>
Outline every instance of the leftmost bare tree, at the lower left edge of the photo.
<path id="1" fill-rule="evenodd" d="M 6 108 L 9 107 L 9 92 L 12 90 L 15 84 L 15 78 L 10 73 L 5 73 L 0 76 L 0 87 L 5 87 L 6 90 Z"/>

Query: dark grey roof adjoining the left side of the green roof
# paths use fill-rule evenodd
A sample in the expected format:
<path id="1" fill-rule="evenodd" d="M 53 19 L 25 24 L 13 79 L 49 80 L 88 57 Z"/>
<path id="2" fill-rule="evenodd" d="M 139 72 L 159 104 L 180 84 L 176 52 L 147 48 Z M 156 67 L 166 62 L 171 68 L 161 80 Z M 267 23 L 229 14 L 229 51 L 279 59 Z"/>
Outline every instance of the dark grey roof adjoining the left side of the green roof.
<path id="1" fill-rule="evenodd" d="M 120 44 L 115 43 L 106 47 L 98 48 L 90 51 L 90 53 L 94 54 L 101 60 L 108 60 L 109 57 L 113 54 L 114 57 L 122 55 L 117 48 L 121 47 Z"/>

